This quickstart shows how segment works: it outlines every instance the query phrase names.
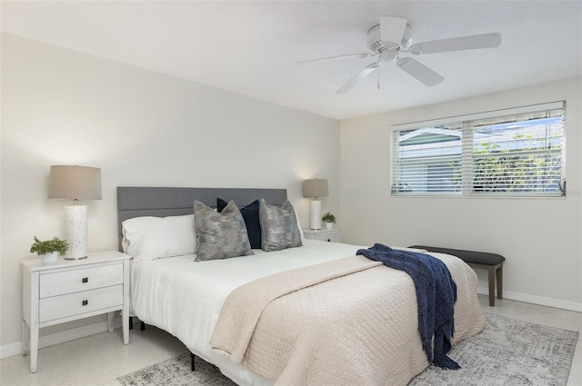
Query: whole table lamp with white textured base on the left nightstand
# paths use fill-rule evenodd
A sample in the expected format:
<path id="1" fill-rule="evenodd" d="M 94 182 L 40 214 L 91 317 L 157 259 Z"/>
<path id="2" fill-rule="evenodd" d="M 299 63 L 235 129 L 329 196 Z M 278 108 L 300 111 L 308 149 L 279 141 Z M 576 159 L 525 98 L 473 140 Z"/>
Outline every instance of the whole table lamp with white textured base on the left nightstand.
<path id="1" fill-rule="evenodd" d="M 74 200 L 65 206 L 65 260 L 87 257 L 87 207 L 79 200 L 101 200 L 101 169 L 76 165 L 51 166 L 48 198 Z"/>

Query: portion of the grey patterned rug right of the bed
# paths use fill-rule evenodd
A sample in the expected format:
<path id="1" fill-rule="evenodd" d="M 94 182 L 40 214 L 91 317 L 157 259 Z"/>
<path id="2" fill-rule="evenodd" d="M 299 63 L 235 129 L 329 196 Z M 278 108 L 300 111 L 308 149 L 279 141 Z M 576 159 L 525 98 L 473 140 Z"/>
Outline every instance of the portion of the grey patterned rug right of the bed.
<path id="1" fill-rule="evenodd" d="M 564 386 L 577 332 L 485 313 L 486 328 L 450 352 L 461 369 L 428 367 L 408 386 Z"/>

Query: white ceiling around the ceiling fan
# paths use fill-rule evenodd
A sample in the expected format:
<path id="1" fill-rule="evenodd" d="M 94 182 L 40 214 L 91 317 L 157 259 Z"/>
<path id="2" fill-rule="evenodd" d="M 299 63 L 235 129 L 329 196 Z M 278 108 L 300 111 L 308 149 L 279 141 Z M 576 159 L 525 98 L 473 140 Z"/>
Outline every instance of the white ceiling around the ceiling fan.
<path id="1" fill-rule="evenodd" d="M 2 1 L 2 31 L 336 119 L 582 76 L 581 1 Z M 498 32 L 499 47 L 415 56 L 445 77 L 426 87 L 365 53 L 381 15 L 408 19 L 413 43 Z"/>

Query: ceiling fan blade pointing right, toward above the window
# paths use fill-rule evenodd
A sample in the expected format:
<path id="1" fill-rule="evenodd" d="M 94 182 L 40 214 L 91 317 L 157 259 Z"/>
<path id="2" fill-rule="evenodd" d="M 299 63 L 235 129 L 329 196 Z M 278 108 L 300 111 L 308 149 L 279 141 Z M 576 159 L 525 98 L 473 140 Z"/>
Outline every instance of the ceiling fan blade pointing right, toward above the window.
<path id="1" fill-rule="evenodd" d="M 501 45 L 501 35 L 497 33 L 453 37 L 417 43 L 408 49 L 410 54 L 435 54 L 448 51 L 474 50 L 477 48 L 494 48 Z"/>

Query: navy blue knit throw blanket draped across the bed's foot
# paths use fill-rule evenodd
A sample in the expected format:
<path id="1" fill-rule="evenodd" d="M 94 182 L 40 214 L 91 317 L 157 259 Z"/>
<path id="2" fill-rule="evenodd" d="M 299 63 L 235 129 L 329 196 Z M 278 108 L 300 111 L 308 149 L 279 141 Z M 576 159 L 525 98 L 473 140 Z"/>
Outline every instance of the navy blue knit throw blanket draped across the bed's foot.
<path id="1" fill-rule="evenodd" d="M 368 259 L 383 262 L 390 268 L 404 271 L 415 283 L 418 302 L 418 332 L 422 339 L 426 358 L 430 363 L 444 369 L 460 368 L 456 361 L 447 357 L 451 350 L 451 338 L 455 332 L 455 302 L 457 284 L 453 281 L 447 265 L 424 253 L 394 250 L 376 243 L 368 249 L 360 249 Z M 435 348 L 432 339 L 435 338 Z"/>

